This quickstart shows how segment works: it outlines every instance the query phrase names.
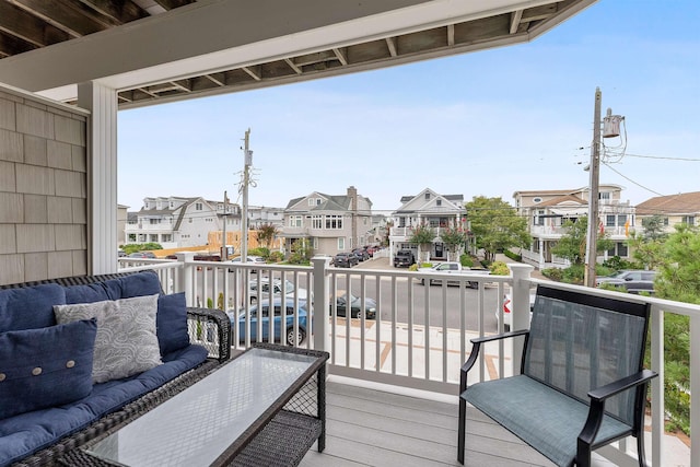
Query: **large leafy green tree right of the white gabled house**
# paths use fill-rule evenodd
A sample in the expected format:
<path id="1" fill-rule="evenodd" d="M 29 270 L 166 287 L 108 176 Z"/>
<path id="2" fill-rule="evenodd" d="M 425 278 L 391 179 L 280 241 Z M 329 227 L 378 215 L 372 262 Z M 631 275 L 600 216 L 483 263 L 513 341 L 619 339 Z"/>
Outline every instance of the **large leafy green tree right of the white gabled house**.
<path id="1" fill-rule="evenodd" d="M 527 221 L 501 198 L 477 196 L 465 207 L 477 248 L 483 249 L 487 261 L 493 261 L 498 252 L 512 246 L 529 246 Z"/>

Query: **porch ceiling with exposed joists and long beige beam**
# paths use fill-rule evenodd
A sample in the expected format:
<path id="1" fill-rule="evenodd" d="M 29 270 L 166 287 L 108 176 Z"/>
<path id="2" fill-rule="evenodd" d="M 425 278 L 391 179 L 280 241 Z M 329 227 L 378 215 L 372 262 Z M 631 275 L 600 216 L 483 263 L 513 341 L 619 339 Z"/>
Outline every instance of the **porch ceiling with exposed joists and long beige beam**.
<path id="1" fill-rule="evenodd" d="M 596 0 L 0 0 L 0 82 L 119 107 L 532 40 Z"/>

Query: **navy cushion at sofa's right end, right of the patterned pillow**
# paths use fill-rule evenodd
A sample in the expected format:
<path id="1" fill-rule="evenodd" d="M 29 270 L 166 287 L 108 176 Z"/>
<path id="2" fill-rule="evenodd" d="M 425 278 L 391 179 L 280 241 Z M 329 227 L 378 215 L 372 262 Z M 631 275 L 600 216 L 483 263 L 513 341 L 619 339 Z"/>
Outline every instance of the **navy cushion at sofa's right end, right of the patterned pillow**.
<path id="1" fill-rule="evenodd" d="M 185 292 L 159 296 L 155 327 L 161 355 L 189 346 Z"/>

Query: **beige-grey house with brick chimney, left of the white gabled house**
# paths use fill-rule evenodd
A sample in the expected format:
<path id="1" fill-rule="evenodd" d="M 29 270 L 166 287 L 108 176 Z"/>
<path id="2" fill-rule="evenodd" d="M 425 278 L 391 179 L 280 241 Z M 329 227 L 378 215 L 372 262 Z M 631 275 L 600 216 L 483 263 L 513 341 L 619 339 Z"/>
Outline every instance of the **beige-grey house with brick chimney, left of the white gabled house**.
<path id="1" fill-rule="evenodd" d="M 306 238 L 313 253 L 335 255 L 366 245 L 372 236 L 372 201 L 358 194 L 353 186 L 346 195 L 314 191 L 292 199 L 284 209 L 282 235 L 285 248 Z"/>

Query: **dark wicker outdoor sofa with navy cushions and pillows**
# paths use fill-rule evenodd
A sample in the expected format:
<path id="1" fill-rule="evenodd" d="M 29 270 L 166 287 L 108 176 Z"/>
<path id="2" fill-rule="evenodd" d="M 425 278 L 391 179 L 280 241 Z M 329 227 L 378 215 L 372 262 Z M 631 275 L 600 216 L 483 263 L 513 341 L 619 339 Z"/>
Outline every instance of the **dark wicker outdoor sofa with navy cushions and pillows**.
<path id="1" fill-rule="evenodd" d="M 0 466 L 60 464 L 230 352 L 226 315 L 153 271 L 0 285 Z"/>

